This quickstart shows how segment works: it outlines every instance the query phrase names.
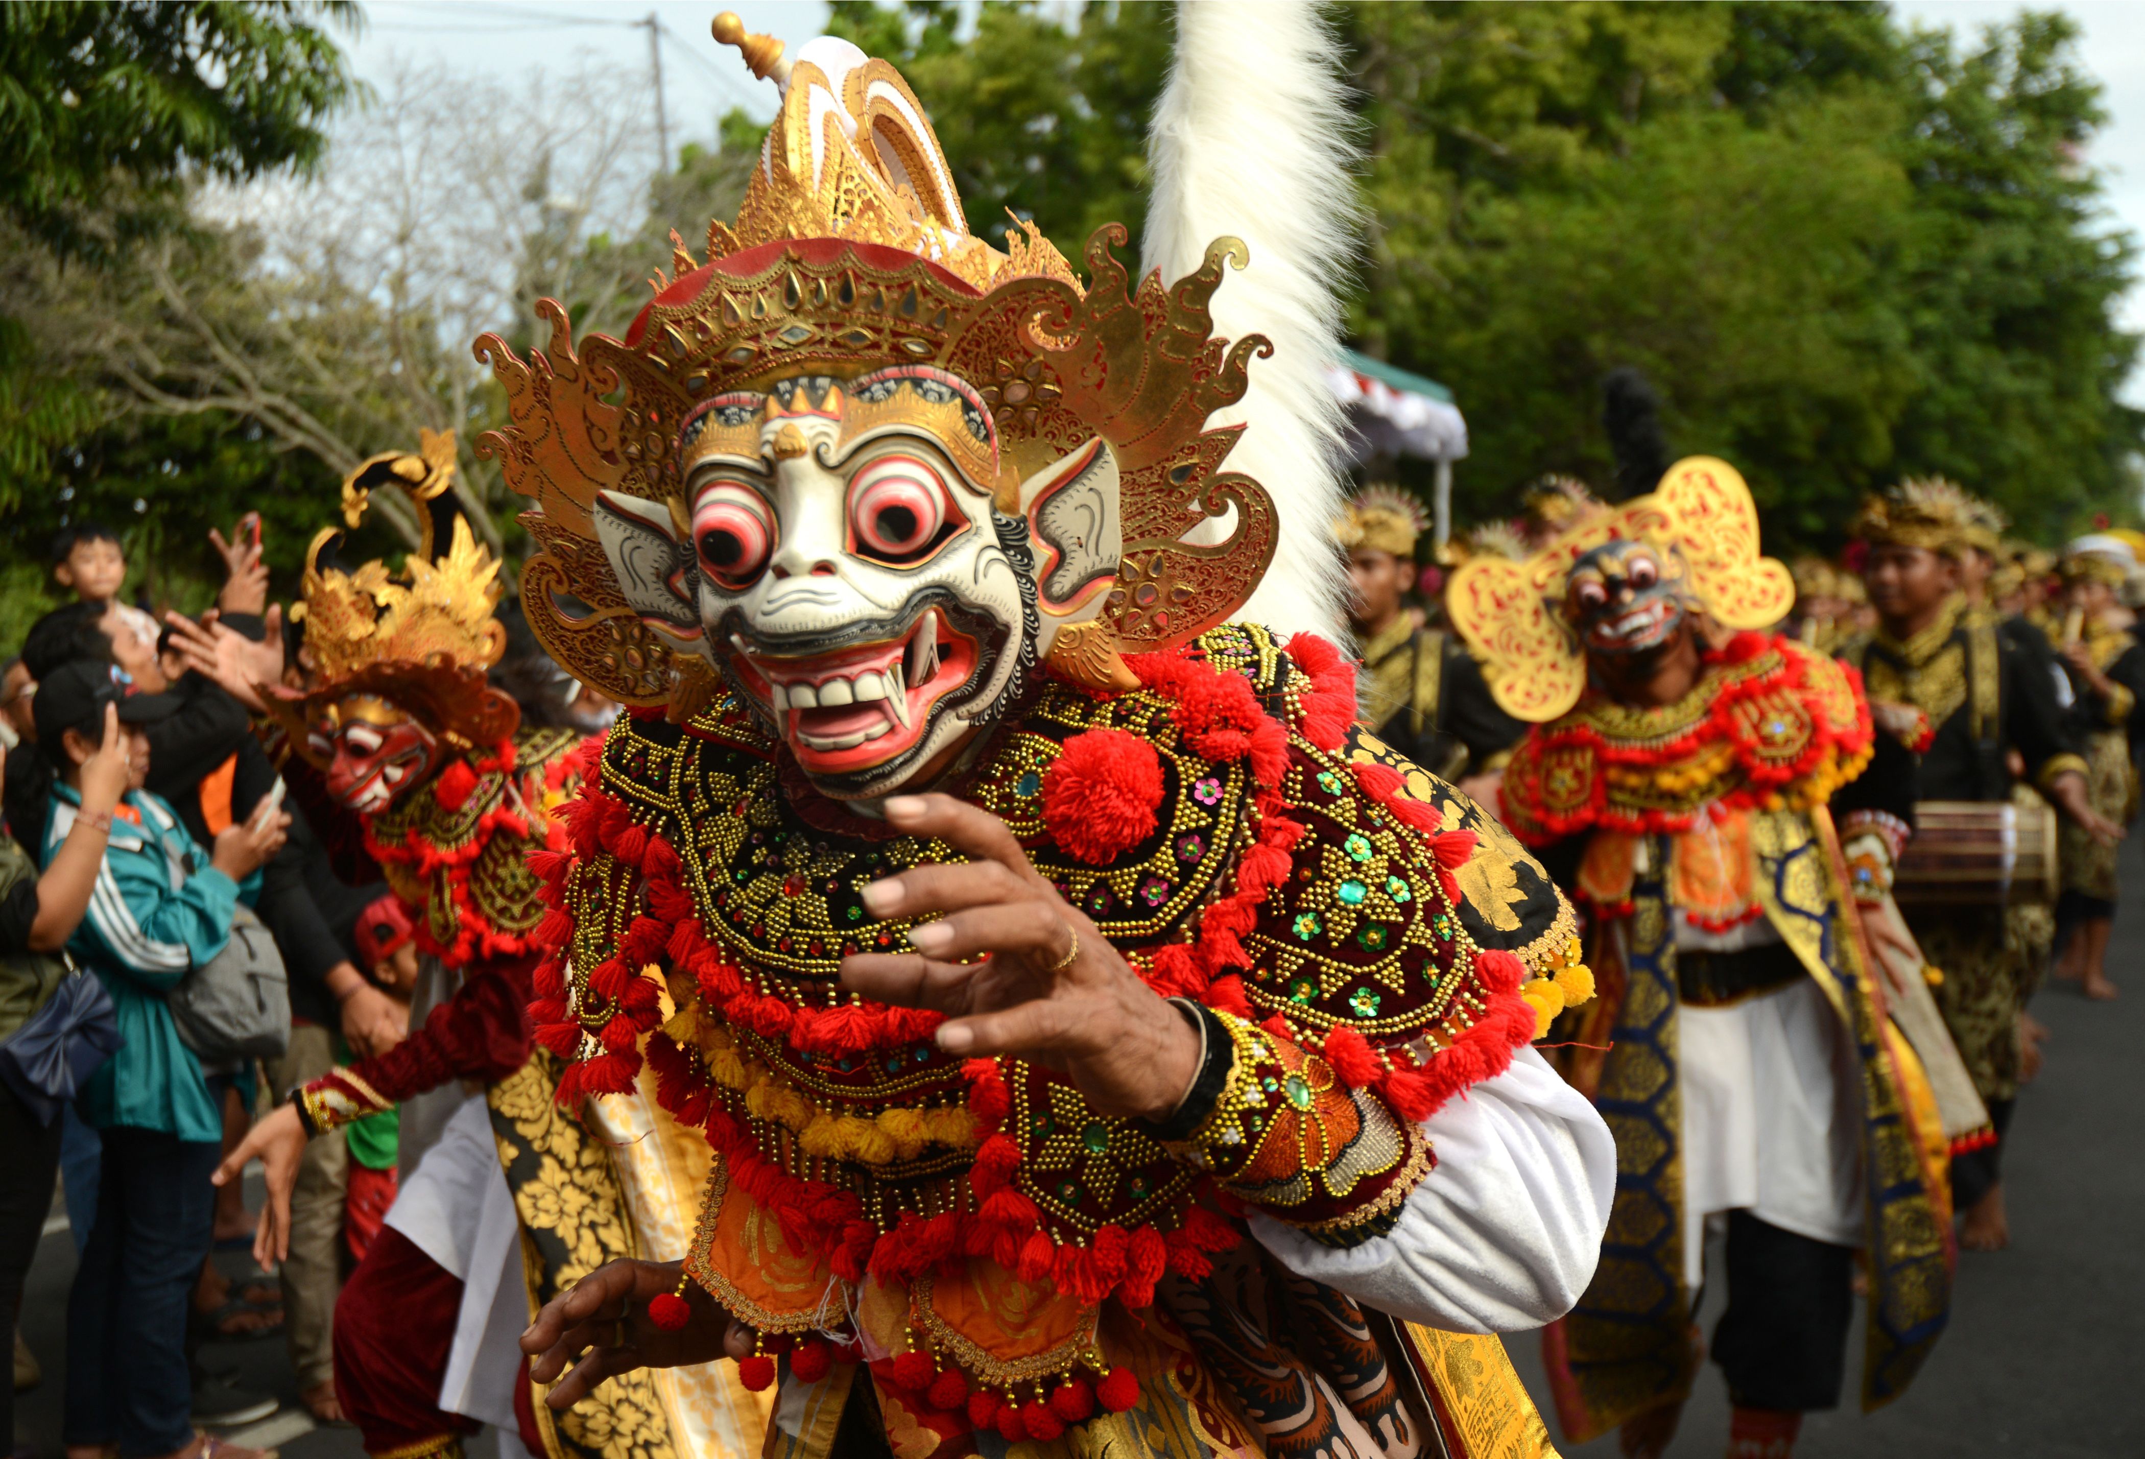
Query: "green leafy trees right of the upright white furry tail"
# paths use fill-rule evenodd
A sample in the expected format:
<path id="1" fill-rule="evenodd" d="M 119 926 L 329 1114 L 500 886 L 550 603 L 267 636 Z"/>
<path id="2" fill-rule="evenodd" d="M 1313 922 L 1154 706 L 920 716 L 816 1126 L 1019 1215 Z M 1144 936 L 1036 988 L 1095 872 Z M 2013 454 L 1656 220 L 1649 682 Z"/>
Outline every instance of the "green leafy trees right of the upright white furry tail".
<path id="1" fill-rule="evenodd" d="M 2134 498 L 2115 390 L 2130 242 L 2079 165 L 2076 28 L 1961 47 L 1875 4 L 1349 11 L 1377 210 L 1356 328 L 1450 382 L 1461 515 L 1609 481 L 1598 382 L 1647 371 L 1677 453 L 1735 461 L 1767 541 L 1943 472 L 2048 539 Z"/>

